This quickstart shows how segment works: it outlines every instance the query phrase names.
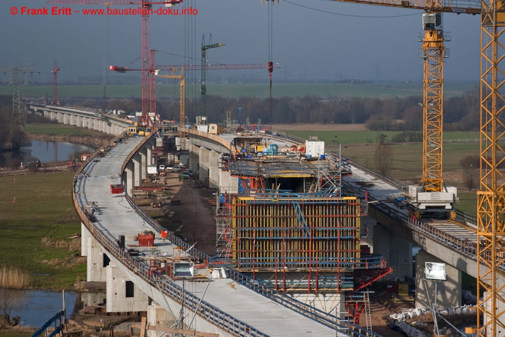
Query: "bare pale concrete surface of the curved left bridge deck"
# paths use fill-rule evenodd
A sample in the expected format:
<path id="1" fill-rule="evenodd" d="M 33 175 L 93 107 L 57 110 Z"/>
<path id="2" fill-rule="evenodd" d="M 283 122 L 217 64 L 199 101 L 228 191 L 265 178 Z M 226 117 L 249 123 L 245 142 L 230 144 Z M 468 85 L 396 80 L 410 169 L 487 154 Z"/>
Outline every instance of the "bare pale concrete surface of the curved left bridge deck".
<path id="1" fill-rule="evenodd" d="M 140 142 L 144 140 L 142 137 L 127 138 L 124 142 L 119 143 L 118 146 L 109 151 L 109 155 L 104 158 L 95 158 L 96 161 L 88 161 L 82 168 L 82 174 L 78 175 L 74 182 L 74 193 L 77 201 L 77 207 L 84 208 L 88 202 L 95 202 L 98 204 L 99 212 L 96 214 L 96 221 L 88 226 L 93 226 L 95 229 L 88 230 L 94 233 L 102 233 L 102 240 L 109 245 L 103 245 L 104 253 L 106 253 L 111 260 L 121 269 L 125 275 L 135 280 L 135 285 L 138 285 L 144 293 L 148 294 L 151 298 L 155 299 L 159 305 L 165 309 L 178 313 L 180 306 L 177 308 L 176 301 L 169 304 L 166 301 L 168 296 L 163 295 L 161 292 L 160 284 L 173 284 L 177 288 L 182 288 L 182 281 L 174 281 L 167 276 L 155 276 L 157 285 L 153 281 L 142 279 L 138 274 L 145 276 L 145 270 L 148 269 L 143 255 L 148 257 L 151 254 L 150 248 L 137 248 L 140 252 L 139 257 L 133 258 L 138 263 L 135 265 L 125 265 L 125 260 L 121 256 L 117 257 L 115 254 L 125 256 L 124 252 L 118 251 L 114 247 L 114 243 L 119 238 L 119 235 L 125 235 L 125 244 L 128 246 L 135 246 L 138 244 L 133 240 L 133 237 L 142 230 L 153 230 L 158 232 L 159 228 L 152 227 L 140 217 L 139 214 L 131 207 L 126 200 L 125 194 L 111 194 L 110 185 L 119 184 L 120 177 L 118 172 L 121 172 L 122 165 L 127 160 L 130 153 L 134 152 Z M 86 226 L 86 227 L 88 227 Z M 98 235 L 98 236 L 100 236 Z M 95 234 L 95 236 L 97 236 Z M 162 240 L 157 233 L 155 239 L 155 246 L 160 250 L 160 255 L 167 258 L 177 258 L 177 246 L 169 240 Z M 110 243 L 112 243 L 111 247 Z M 174 252 L 176 253 L 174 256 Z M 89 253 L 89 252 L 88 252 Z M 131 257 L 130 257 L 131 258 Z M 142 266 L 144 264 L 144 266 Z M 143 267 L 143 271 L 139 268 Z M 88 268 L 92 269 L 92 268 Z M 195 274 L 208 273 L 205 269 L 197 270 Z M 93 277 L 89 275 L 88 278 Z M 142 282 L 142 284 L 137 284 Z M 208 284 L 210 282 L 210 284 Z M 151 284 L 149 284 L 151 283 Z M 206 287 L 208 286 L 207 290 Z M 208 303 L 208 307 L 215 307 L 222 312 L 233 317 L 236 321 L 244 323 L 244 328 L 241 333 L 231 333 L 229 335 L 249 335 L 245 334 L 246 330 L 257 331 L 251 335 L 269 335 L 269 336 L 333 336 L 335 335 L 334 327 L 329 327 L 332 317 L 329 315 L 326 325 L 316 322 L 315 320 L 306 317 L 306 314 L 300 314 L 283 305 L 279 305 L 260 295 L 256 291 L 233 281 L 232 279 L 210 279 L 204 282 L 185 282 L 186 292 L 190 293 L 197 300 L 203 297 L 203 301 Z M 205 296 L 204 296 L 205 293 Z M 165 297 L 165 298 L 164 298 Z M 191 315 L 190 315 L 191 316 Z M 205 316 L 205 315 L 204 315 Z M 333 316 L 334 317 L 334 316 Z M 198 317 L 198 321 L 204 321 Z M 197 324 L 198 325 L 198 324 Z M 205 325 L 205 324 L 204 324 Z M 198 329 L 209 331 L 208 326 L 198 325 Z M 253 328 L 254 327 L 254 328 Z M 215 332 L 223 334 L 222 329 L 215 329 Z M 342 328 L 342 334 L 346 329 Z M 233 331 L 232 331 L 233 332 Z M 355 334 L 361 335 L 361 334 Z"/>

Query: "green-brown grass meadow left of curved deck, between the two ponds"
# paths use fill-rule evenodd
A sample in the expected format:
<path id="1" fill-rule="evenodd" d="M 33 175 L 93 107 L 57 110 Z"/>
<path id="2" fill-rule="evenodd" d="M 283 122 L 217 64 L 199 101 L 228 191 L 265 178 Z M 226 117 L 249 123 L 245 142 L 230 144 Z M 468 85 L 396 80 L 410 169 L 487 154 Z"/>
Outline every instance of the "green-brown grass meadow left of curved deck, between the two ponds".
<path id="1" fill-rule="evenodd" d="M 73 177 L 73 172 L 0 177 L 0 264 L 27 271 L 34 288 L 69 289 L 86 273 L 85 263 L 72 263 L 79 253 L 75 246 L 70 251 L 56 245 L 81 229 L 72 205 Z"/>

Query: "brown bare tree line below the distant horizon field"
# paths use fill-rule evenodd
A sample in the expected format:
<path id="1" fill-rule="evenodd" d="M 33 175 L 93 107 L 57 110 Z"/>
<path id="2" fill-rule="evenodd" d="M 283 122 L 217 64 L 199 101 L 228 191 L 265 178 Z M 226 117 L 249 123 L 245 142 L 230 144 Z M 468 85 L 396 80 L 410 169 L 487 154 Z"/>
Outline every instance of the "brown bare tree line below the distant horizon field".
<path id="1" fill-rule="evenodd" d="M 423 123 L 423 98 L 383 97 L 369 98 L 328 98 L 316 96 L 281 97 L 261 99 L 255 96 L 242 96 L 238 99 L 214 95 L 207 96 L 206 115 L 209 123 L 221 123 L 231 112 L 232 120 L 243 123 L 248 118 L 251 124 L 362 124 L 366 123 L 375 131 L 421 131 Z M 81 105 L 81 104 L 79 104 Z M 140 99 L 87 100 L 82 105 L 127 112 L 141 110 Z M 157 100 L 157 113 L 162 119 L 179 120 L 178 100 Z M 201 115 L 199 99 L 186 99 L 186 112 L 190 123 Z M 271 107 L 271 108 L 270 108 Z M 479 126 L 480 99 L 478 90 L 472 90 L 458 97 L 446 98 L 443 106 L 443 123 L 447 131 L 474 131 Z"/>

